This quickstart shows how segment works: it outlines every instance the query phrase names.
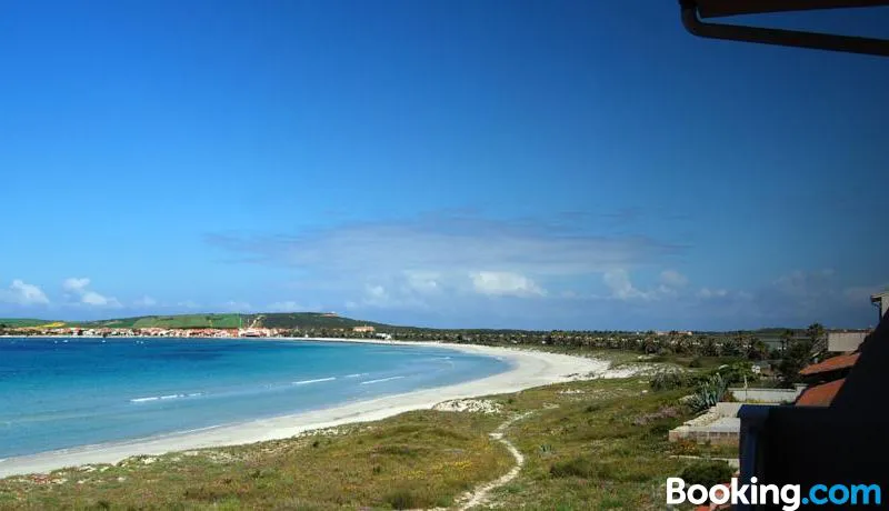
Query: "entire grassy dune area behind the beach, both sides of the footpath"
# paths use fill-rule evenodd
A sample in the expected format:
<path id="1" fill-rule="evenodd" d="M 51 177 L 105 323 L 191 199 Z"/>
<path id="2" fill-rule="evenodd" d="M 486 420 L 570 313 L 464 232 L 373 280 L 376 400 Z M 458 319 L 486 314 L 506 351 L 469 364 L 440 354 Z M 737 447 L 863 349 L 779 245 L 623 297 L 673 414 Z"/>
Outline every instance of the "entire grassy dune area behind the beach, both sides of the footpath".
<path id="1" fill-rule="evenodd" d="M 498 413 L 416 411 L 288 440 L 12 477 L 0 480 L 0 509 L 451 508 L 515 465 L 489 433 L 518 414 L 506 438 L 526 463 L 478 509 L 662 509 L 666 478 L 693 463 L 677 455 L 732 454 L 667 441 L 690 418 L 678 404 L 685 393 L 650 391 L 643 378 L 547 385 L 489 398 Z"/>

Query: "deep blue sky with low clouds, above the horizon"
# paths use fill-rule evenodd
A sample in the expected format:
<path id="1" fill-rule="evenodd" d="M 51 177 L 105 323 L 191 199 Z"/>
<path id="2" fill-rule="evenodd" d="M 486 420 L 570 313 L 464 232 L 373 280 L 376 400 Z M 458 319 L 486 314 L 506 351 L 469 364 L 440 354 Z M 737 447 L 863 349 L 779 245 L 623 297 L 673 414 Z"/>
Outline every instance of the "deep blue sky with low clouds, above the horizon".
<path id="1" fill-rule="evenodd" d="M 889 284 L 885 59 L 667 0 L 0 14 L 0 315 L 867 327 Z"/>

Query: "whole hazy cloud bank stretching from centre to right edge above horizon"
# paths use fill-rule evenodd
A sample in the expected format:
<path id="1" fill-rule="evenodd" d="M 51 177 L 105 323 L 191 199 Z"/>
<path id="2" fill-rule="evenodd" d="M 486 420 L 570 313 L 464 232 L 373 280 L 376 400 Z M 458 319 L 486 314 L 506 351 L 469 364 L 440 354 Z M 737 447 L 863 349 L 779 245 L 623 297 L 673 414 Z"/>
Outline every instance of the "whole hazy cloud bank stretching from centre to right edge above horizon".
<path id="1" fill-rule="evenodd" d="M 671 262 L 686 247 L 648 237 L 595 234 L 565 222 L 438 216 L 290 236 L 229 233 L 210 236 L 207 242 L 233 255 L 232 262 L 284 267 L 298 274 L 290 284 L 299 293 L 294 295 L 312 295 L 328 307 L 384 308 L 384 317 L 401 314 L 406 321 L 472 319 L 486 308 L 485 318 L 557 318 L 571 311 L 592 322 L 590 328 L 599 327 L 592 309 L 608 311 L 601 314 L 606 324 L 636 317 L 642 323 L 649 318 L 698 318 L 713 324 L 720 318 L 730 324 L 778 324 L 831 313 L 837 291 L 850 305 L 833 317 L 858 313 L 851 309 L 859 307 L 852 295 L 863 297 L 860 303 L 867 304 L 859 290 L 850 290 L 845 300 L 845 288 L 831 283 L 838 279 L 831 271 L 795 272 L 771 283 L 750 275 L 740 288 L 693 282 Z M 885 273 L 875 281 L 886 280 Z"/>

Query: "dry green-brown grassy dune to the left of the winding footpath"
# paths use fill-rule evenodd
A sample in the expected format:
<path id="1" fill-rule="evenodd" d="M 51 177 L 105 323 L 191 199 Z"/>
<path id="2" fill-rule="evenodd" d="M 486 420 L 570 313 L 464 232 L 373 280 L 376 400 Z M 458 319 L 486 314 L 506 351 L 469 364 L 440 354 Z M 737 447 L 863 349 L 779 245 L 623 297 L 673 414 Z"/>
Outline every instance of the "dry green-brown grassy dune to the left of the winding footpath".
<path id="1" fill-rule="evenodd" d="M 227 449 L 136 457 L 118 465 L 0 481 L 0 508 L 381 509 L 450 505 L 512 458 L 496 419 L 416 412 L 346 430 Z M 38 479 L 38 481 L 41 481 Z"/>

